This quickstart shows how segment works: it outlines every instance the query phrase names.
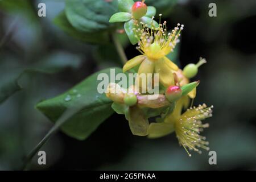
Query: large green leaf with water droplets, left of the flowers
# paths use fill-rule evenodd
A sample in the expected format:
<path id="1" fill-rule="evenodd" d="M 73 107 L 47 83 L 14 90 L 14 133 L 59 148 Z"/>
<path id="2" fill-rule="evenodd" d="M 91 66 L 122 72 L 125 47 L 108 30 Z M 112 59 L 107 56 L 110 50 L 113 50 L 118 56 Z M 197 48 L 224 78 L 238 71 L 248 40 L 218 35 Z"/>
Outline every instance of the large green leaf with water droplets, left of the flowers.
<path id="1" fill-rule="evenodd" d="M 104 93 L 100 94 L 97 91 L 98 84 L 101 82 L 97 80 L 100 73 L 110 77 L 110 68 L 94 73 L 59 96 L 39 102 L 36 108 L 52 122 L 56 122 L 65 110 L 79 105 L 80 110 L 65 121 L 60 129 L 76 139 L 88 138 L 114 112 L 111 107 L 113 102 Z M 122 73 L 122 69 L 115 68 L 115 73 Z"/>

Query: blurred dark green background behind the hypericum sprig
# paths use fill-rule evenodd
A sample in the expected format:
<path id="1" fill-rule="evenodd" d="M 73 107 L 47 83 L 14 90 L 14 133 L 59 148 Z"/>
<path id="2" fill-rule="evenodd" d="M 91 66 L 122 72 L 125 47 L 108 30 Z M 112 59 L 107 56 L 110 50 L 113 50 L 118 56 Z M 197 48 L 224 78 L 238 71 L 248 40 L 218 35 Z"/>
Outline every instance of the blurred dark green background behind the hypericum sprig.
<path id="1" fill-rule="evenodd" d="M 35 109 L 37 102 L 102 68 L 122 66 L 114 48 L 104 52 L 104 47 L 82 43 L 53 24 L 64 1 L 28 2 L 24 7 L 0 6 L 0 81 L 38 61 L 57 57 L 63 64 L 68 55 L 76 64 L 60 65 L 55 74 L 20 76 L 23 89 L 0 105 L 0 170 L 18 169 L 53 125 Z M 37 16 L 39 2 L 46 3 L 46 18 Z M 210 2 L 217 5 L 217 17 L 208 16 Z M 200 56 L 208 61 L 193 78 L 201 81 L 195 105 L 214 105 L 203 135 L 217 152 L 217 165 L 208 164 L 208 152 L 189 158 L 175 134 L 154 140 L 133 136 L 123 115 L 113 114 L 84 141 L 58 132 L 42 148 L 47 165 L 39 166 L 34 159 L 30 169 L 256 169 L 256 2 L 181 0 L 164 11 L 163 18 L 170 28 L 185 25 L 176 60 L 181 68 Z M 124 45 L 129 59 L 139 54 L 134 46 Z"/>

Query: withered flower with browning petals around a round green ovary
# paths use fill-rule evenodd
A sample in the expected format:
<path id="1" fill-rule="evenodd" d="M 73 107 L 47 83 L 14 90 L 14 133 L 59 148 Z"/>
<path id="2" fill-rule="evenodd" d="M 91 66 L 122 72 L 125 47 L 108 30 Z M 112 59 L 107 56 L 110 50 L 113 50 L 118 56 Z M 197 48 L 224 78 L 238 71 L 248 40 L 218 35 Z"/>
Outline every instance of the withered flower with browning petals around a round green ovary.
<path id="1" fill-rule="evenodd" d="M 123 89 L 118 84 L 110 83 L 105 94 L 114 102 L 112 108 L 118 114 L 125 114 L 131 133 L 138 136 L 146 136 L 148 131 L 148 116 L 142 110 L 144 107 L 159 109 L 170 105 L 163 94 L 159 94 L 155 100 L 150 100 L 148 95 L 141 95 L 134 85 Z"/>

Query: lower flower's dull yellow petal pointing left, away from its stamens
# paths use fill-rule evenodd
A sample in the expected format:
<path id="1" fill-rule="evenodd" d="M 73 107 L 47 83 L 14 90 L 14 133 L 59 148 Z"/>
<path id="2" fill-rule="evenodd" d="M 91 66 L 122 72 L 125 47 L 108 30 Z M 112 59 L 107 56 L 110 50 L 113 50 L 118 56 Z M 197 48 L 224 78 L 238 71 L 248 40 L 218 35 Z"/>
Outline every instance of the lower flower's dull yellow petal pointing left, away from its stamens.
<path id="1" fill-rule="evenodd" d="M 164 137 L 174 132 L 173 123 L 150 123 L 148 127 L 148 138 Z"/>

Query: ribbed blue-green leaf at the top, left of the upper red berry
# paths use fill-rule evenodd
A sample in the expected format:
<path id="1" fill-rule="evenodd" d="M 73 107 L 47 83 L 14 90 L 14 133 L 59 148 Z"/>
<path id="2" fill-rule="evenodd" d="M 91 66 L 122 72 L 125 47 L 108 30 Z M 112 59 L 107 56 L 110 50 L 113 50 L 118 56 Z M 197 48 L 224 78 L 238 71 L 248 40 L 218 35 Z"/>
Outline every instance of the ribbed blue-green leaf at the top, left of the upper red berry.
<path id="1" fill-rule="evenodd" d="M 109 18 L 114 7 L 106 1 L 66 0 L 65 13 L 68 21 L 82 32 L 102 31 L 109 28 Z"/>

